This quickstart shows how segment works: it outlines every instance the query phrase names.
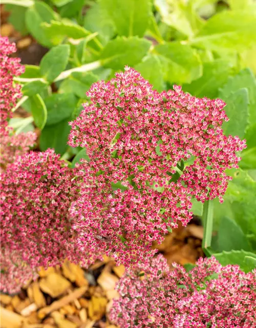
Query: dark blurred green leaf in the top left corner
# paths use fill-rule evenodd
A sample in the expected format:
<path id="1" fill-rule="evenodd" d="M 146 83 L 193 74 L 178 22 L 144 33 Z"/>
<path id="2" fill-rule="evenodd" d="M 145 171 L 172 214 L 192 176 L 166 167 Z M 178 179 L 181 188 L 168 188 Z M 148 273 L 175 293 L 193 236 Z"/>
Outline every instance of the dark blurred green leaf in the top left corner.
<path id="1" fill-rule="evenodd" d="M 28 33 L 25 23 L 27 8 L 15 5 L 5 5 L 5 11 L 9 12 L 8 22 L 16 31 L 20 32 L 22 35 L 26 35 Z"/>

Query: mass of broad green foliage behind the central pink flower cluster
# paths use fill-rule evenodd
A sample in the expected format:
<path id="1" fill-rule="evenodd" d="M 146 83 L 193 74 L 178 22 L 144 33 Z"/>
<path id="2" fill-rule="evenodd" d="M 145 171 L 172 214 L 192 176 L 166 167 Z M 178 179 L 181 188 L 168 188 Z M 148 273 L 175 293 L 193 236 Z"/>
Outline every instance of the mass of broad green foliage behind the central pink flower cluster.
<path id="1" fill-rule="evenodd" d="M 9 123 L 16 133 L 39 128 L 40 150 L 54 148 L 72 167 L 89 158 L 85 150 L 67 146 L 68 122 L 90 101 L 91 85 L 112 78 L 125 65 L 159 92 L 178 84 L 191 95 L 226 102 L 225 134 L 245 138 L 247 148 L 240 169 L 230 170 L 224 203 L 214 200 L 207 216 L 206 206 L 203 215 L 202 203 L 193 199 L 192 211 L 210 218 L 209 243 L 214 222 L 211 249 L 219 252 L 215 255 L 223 265 L 255 268 L 255 1 L 13 0 L 6 9 L 16 30 L 49 48 L 38 67 L 26 65 L 15 79 L 22 84 L 21 105 L 32 116 Z M 120 182 L 112 187 L 124 188 Z"/>

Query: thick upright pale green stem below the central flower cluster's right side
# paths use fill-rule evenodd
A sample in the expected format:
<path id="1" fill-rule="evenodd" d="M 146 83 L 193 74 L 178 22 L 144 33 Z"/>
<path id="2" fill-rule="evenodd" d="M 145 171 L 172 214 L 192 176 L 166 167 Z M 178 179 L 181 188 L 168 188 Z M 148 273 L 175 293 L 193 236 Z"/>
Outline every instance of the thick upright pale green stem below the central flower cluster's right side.
<path id="1" fill-rule="evenodd" d="M 203 226 L 204 236 L 202 242 L 202 249 L 206 256 L 211 255 L 211 236 L 214 225 L 214 203 L 212 200 L 207 200 L 203 206 Z"/>

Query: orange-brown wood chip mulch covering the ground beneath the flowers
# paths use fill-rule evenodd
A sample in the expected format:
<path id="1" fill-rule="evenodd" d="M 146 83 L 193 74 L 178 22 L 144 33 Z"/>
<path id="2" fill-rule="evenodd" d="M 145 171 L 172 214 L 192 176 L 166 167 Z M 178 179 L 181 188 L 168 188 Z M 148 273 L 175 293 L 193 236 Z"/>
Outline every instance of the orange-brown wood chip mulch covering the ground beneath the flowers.
<path id="1" fill-rule="evenodd" d="M 170 267 L 195 263 L 203 256 L 203 228 L 198 222 L 180 227 L 155 244 Z M 66 261 L 61 267 L 40 270 L 17 295 L 0 294 L 1 328 L 117 328 L 108 313 L 113 298 L 118 297 L 115 284 L 124 273 L 123 265 L 105 257 L 87 270 Z"/>

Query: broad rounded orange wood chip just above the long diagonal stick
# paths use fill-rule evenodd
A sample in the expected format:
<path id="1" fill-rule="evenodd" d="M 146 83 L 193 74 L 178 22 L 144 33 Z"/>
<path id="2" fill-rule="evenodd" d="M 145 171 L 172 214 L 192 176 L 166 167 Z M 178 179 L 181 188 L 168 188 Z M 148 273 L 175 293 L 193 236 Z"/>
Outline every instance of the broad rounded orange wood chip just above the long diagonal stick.
<path id="1" fill-rule="evenodd" d="M 39 286 L 43 292 L 55 298 L 65 293 L 70 288 L 71 283 L 61 275 L 51 273 L 39 281 Z"/>

